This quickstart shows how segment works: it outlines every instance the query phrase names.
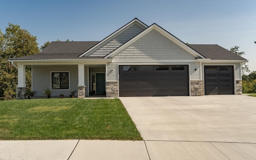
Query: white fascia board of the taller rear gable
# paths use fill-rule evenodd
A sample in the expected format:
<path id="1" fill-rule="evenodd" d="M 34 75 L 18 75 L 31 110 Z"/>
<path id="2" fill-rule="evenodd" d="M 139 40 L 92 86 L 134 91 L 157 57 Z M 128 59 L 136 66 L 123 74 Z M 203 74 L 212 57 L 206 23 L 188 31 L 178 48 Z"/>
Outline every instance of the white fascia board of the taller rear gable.
<path id="1" fill-rule="evenodd" d="M 83 54 L 81 54 L 79 57 L 83 57 L 83 56 L 88 56 L 89 54 L 91 54 L 92 52 L 94 52 L 95 50 L 97 50 L 98 48 L 100 48 L 103 44 L 105 44 L 106 42 L 108 42 L 109 40 L 111 40 L 112 38 L 114 38 L 115 36 L 118 36 L 118 34 L 122 33 L 123 30 L 125 30 L 126 28 L 130 27 L 133 24 L 138 24 L 140 27 L 146 29 L 148 28 L 148 26 L 146 24 L 144 24 L 143 22 L 141 22 L 140 20 L 138 20 L 137 18 L 135 18 L 134 20 L 132 20 L 131 22 L 129 22 L 128 24 L 124 25 L 122 28 L 120 28 L 119 30 L 117 30 L 116 32 L 110 34 L 108 37 L 106 37 L 105 39 L 103 39 L 102 41 L 100 41 L 98 44 L 96 44 L 95 46 L 93 46 L 92 48 L 90 48 L 89 50 L 87 50 L 86 52 L 84 52 Z"/>

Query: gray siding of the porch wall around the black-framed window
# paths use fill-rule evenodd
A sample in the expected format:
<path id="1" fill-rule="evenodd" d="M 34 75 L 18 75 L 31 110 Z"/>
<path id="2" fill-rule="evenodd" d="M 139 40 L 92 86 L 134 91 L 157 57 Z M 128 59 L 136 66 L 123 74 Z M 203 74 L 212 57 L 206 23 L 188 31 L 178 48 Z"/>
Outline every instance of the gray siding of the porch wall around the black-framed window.
<path id="1" fill-rule="evenodd" d="M 78 66 L 33 66 L 33 90 L 36 91 L 35 96 L 43 96 L 43 90 L 48 87 L 51 88 L 51 71 L 69 71 L 70 72 L 70 89 L 69 90 L 54 90 L 52 96 L 59 96 L 63 93 L 64 96 L 69 96 L 70 92 L 77 90 L 78 85 Z M 77 93 L 76 93 L 77 96 Z"/>

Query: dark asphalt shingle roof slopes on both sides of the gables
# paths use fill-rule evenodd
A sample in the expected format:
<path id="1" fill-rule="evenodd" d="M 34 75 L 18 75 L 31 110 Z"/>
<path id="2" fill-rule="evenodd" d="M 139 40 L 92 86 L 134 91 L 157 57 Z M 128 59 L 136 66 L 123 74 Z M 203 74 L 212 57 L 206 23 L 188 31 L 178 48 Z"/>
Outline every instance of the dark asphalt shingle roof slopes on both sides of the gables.
<path id="1" fill-rule="evenodd" d="M 79 57 L 99 41 L 85 42 L 51 42 L 39 54 L 14 58 L 12 60 L 44 60 L 44 59 L 95 59 L 103 56 Z M 211 60 L 246 60 L 217 44 L 188 44 L 196 52 Z"/>

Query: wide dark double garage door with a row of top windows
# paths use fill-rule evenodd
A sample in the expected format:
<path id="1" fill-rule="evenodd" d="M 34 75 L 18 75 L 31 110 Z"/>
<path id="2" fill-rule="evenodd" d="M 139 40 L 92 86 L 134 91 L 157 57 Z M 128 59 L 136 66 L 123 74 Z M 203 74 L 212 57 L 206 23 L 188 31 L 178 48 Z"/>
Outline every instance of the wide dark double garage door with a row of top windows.
<path id="1" fill-rule="evenodd" d="M 119 96 L 188 96 L 188 65 L 119 66 Z"/>

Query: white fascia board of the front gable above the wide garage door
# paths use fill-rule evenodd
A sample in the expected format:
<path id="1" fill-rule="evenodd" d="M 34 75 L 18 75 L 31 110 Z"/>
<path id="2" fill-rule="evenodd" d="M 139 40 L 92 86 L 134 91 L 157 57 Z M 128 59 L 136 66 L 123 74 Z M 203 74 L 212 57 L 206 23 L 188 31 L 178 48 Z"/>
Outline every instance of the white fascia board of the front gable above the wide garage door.
<path id="1" fill-rule="evenodd" d="M 131 40 L 129 40 L 128 42 L 126 42 L 125 44 L 123 44 L 122 46 L 120 46 L 119 48 L 117 48 L 116 50 L 114 50 L 113 52 L 108 54 L 107 56 L 105 56 L 104 58 L 109 58 L 109 57 L 112 58 L 114 55 L 121 52 L 122 50 L 124 50 L 125 48 L 127 48 L 132 43 L 136 42 L 138 39 L 140 39 L 144 35 L 148 34 L 152 30 L 158 31 L 160 34 L 162 34 L 163 36 L 165 36 L 166 38 L 168 38 L 169 40 L 171 40 L 172 42 L 174 42 L 175 44 L 177 44 L 178 46 L 180 46 L 181 48 L 183 48 L 184 50 L 186 50 L 187 52 L 189 52 L 196 58 L 204 58 L 205 59 L 204 56 L 202 56 L 201 54 L 199 54 L 198 52 L 196 52 L 195 50 L 193 50 L 192 48 L 190 48 L 189 46 L 184 44 L 184 42 L 180 41 L 178 38 L 172 36 L 172 34 L 168 33 L 166 30 L 164 30 L 157 24 L 152 24 L 146 30 L 142 31 L 140 34 L 138 34 L 137 36 L 135 36 L 134 38 L 132 38 Z"/>

